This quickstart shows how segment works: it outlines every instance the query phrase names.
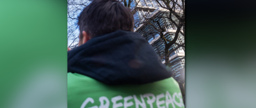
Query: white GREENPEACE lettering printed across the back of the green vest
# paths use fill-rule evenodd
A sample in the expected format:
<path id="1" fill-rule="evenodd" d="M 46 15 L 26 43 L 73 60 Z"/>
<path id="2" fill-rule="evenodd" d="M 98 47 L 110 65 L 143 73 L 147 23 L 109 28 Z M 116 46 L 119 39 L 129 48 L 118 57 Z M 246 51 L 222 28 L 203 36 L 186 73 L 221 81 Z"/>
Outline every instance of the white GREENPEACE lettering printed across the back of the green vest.
<path id="1" fill-rule="evenodd" d="M 94 103 L 93 98 L 88 97 L 88 98 L 86 98 L 86 100 L 84 100 L 84 102 L 80 108 L 88 107 L 88 105 L 90 105 L 90 106 L 93 105 L 92 107 L 89 107 L 89 108 L 109 108 L 109 107 L 113 107 L 113 108 L 120 108 L 120 107 L 147 108 L 147 105 L 149 105 L 148 107 L 150 107 L 150 108 L 153 108 L 153 107 L 157 107 L 157 108 L 184 107 L 184 102 L 182 100 L 183 99 L 182 94 L 180 92 L 175 92 L 175 93 L 173 93 L 173 95 L 171 95 L 171 92 L 169 92 L 169 91 L 166 91 L 166 93 L 161 93 L 159 95 L 154 95 L 153 93 L 145 93 L 143 95 L 140 94 L 140 96 L 139 96 L 140 99 L 139 99 L 139 97 L 137 98 L 136 96 L 139 96 L 139 94 L 129 95 L 124 98 L 121 95 L 118 95 L 116 97 L 111 98 L 112 103 L 110 103 L 110 100 L 109 100 L 110 97 L 107 98 L 107 97 L 102 96 L 102 97 L 99 97 L 99 102 L 95 102 L 95 103 L 99 103 L 99 105 L 93 105 L 93 103 Z M 147 98 L 147 105 L 146 105 L 144 98 Z M 134 104 L 133 100 L 134 100 L 135 104 Z M 113 106 L 110 106 L 110 104 L 113 104 Z"/>

